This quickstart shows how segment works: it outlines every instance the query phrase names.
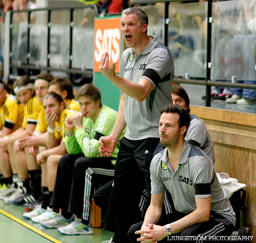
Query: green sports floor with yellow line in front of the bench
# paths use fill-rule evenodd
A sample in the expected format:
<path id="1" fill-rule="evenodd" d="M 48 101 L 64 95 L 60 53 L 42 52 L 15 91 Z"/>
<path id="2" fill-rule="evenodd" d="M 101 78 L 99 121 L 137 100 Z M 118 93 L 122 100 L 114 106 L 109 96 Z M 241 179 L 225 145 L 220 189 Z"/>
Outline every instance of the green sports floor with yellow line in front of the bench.
<path id="1" fill-rule="evenodd" d="M 25 219 L 22 213 L 26 211 L 22 206 L 7 205 L 0 200 L 0 209 L 55 239 L 48 240 L 0 213 L 0 243 L 50 243 L 58 241 L 58 243 L 101 243 L 109 240 L 113 236 L 113 233 L 105 231 L 102 228 L 93 228 L 92 235 L 61 235 L 57 232 L 57 229 L 46 229 L 40 224 Z"/>

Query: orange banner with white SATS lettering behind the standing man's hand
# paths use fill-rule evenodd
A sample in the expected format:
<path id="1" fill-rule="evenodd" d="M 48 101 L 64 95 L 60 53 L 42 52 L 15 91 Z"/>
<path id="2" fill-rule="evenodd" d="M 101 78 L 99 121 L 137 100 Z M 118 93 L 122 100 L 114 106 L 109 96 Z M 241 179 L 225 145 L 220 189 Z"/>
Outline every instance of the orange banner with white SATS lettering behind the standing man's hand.
<path id="1" fill-rule="evenodd" d="M 120 18 L 94 20 L 94 72 L 99 72 L 103 52 L 109 53 L 109 65 L 117 62 L 116 73 L 120 72 L 121 31 Z"/>

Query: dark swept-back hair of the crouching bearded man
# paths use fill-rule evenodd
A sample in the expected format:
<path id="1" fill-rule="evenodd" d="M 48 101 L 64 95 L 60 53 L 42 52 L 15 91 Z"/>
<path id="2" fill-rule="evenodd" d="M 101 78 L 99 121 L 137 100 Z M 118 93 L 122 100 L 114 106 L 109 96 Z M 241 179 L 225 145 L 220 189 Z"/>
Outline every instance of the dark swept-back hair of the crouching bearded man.
<path id="1" fill-rule="evenodd" d="M 191 116 L 188 110 L 185 110 L 179 105 L 168 104 L 160 109 L 160 113 L 177 113 L 180 116 L 180 119 L 178 121 L 179 128 L 181 128 L 182 126 L 185 126 L 187 128 L 186 132 L 184 133 L 184 137 L 186 136 L 191 121 Z"/>

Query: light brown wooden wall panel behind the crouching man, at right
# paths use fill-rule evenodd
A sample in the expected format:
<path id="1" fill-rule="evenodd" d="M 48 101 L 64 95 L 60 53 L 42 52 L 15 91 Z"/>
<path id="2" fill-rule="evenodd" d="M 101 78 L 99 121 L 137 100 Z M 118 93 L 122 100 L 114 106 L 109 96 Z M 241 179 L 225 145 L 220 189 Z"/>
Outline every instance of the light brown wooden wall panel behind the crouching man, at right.
<path id="1" fill-rule="evenodd" d="M 256 243 L 256 114 L 190 106 L 211 134 L 215 170 L 245 183 L 245 225 Z"/>

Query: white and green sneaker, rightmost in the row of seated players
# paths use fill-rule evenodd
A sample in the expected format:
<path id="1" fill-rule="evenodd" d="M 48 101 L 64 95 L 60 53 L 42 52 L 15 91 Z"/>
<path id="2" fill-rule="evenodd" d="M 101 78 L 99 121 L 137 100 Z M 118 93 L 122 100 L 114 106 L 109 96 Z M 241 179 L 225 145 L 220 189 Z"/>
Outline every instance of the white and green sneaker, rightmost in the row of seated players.
<path id="1" fill-rule="evenodd" d="M 73 221 L 65 227 L 58 228 L 58 232 L 64 235 L 91 235 L 93 228 L 91 224 L 85 225 L 81 222 Z"/>

